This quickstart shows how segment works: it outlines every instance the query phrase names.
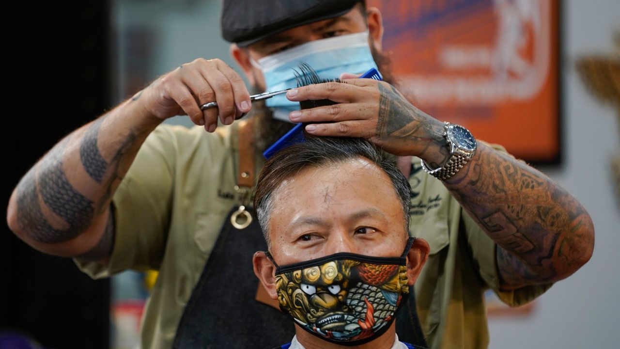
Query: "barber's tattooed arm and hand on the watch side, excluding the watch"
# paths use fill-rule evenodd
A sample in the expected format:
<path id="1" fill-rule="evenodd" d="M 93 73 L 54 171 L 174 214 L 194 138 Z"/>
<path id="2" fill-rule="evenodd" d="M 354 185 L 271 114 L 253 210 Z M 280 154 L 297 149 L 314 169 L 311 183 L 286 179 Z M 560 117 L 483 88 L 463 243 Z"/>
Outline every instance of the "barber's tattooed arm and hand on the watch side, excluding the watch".
<path id="1" fill-rule="evenodd" d="M 443 123 L 412 106 L 394 86 L 370 79 L 289 91 L 294 101 L 331 99 L 335 106 L 291 113 L 314 135 L 364 137 L 396 155 L 418 156 L 433 168 L 448 161 Z M 312 122 L 325 122 L 312 124 Z M 502 289 L 566 278 L 586 263 L 594 228 L 583 206 L 531 166 L 479 142 L 474 158 L 446 188 L 497 245 Z"/>

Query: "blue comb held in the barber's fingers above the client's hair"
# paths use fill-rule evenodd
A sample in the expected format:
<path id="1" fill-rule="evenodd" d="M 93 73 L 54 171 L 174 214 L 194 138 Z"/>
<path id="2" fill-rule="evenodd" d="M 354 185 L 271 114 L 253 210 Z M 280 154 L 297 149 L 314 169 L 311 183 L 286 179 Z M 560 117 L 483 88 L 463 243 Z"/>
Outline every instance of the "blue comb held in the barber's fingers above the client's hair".
<path id="1" fill-rule="evenodd" d="M 295 78 L 297 80 L 297 87 L 307 86 L 309 84 L 327 83 L 329 81 L 340 81 L 340 79 L 330 80 L 330 79 L 319 78 L 319 75 L 317 75 L 316 71 L 314 71 L 314 69 L 312 69 L 312 67 L 309 66 L 308 63 L 305 63 L 305 62 L 299 63 L 299 70 L 301 71 L 301 73 L 298 73 L 297 70 L 294 70 Z M 366 71 L 366 73 L 363 73 L 360 76 L 360 79 L 375 79 L 378 81 L 383 81 L 383 77 L 381 76 L 379 71 L 376 70 L 375 68 L 370 68 L 370 70 Z M 330 106 L 332 104 L 336 104 L 336 103 L 333 101 L 330 101 L 329 99 L 321 99 L 319 101 L 299 102 L 301 109 L 309 109 L 309 108 L 320 107 L 320 106 Z M 265 159 L 268 160 L 275 153 L 280 152 L 280 150 L 284 148 L 288 148 L 293 144 L 305 142 L 306 140 L 304 138 L 303 127 L 304 127 L 304 124 L 297 124 L 295 125 L 295 127 L 293 127 L 293 129 L 286 132 L 285 135 L 280 137 L 280 139 L 278 139 L 275 143 L 273 143 L 271 147 L 267 148 L 267 150 L 263 152 L 263 156 L 265 156 Z"/>

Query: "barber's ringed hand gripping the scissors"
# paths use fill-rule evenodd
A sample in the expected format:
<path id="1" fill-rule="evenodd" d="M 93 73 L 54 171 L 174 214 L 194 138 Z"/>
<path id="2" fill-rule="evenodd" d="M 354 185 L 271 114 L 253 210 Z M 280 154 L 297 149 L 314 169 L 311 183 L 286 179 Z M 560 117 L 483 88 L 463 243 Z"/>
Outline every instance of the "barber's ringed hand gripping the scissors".
<path id="1" fill-rule="evenodd" d="M 250 94 L 241 76 L 219 59 L 198 58 L 170 71 L 133 99 L 159 119 L 187 115 L 205 130 L 215 131 L 219 119 L 226 125 L 250 111 Z M 208 102 L 218 107 L 200 110 Z"/>

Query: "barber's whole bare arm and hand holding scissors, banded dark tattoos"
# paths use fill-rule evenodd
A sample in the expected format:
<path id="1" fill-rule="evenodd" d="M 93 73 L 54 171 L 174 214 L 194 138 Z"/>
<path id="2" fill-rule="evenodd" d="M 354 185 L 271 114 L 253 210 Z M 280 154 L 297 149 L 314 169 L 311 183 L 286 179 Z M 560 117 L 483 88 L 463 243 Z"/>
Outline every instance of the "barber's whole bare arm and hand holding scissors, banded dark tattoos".
<path id="1" fill-rule="evenodd" d="M 201 111 L 217 101 L 219 109 Z M 180 66 L 99 119 L 74 131 L 14 189 L 7 223 L 34 248 L 59 256 L 105 260 L 112 252 L 112 195 L 144 139 L 164 119 L 187 114 L 213 132 L 250 109 L 237 73 L 220 60 Z"/>

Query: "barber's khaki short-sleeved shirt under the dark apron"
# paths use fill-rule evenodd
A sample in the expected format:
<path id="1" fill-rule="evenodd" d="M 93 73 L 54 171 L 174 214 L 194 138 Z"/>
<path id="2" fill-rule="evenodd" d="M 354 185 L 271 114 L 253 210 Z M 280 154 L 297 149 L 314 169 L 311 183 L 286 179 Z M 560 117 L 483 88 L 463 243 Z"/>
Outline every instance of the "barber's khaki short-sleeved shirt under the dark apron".
<path id="1" fill-rule="evenodd" d="M 242 204 L 233 189 L 237 127 L 238 123 L 218 127 L 213 134 L 202 127 L 157 127 L 113 196 L 116 235 L 111 258 L 105 265 L 76 260 L 92 278 L 127 269 L 159 271 L 144 312 L 143 348 L 172 347 L 184 307 L 224 219 Z M 257 159 L 257 170 L 262 163 Z M 494 289 L 502 301 L 516 306 L 548 286 L 498 291 L 494 242 L 440 181 L 420 169 L 417 159 L 410 183 L 414 192 L 410 231 L 425 238 L 431 248 L 415 284 L 428 344 L 485 347 L 489 342 L 485 289 Z"/>

